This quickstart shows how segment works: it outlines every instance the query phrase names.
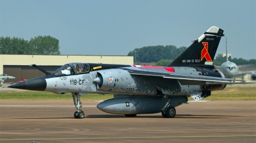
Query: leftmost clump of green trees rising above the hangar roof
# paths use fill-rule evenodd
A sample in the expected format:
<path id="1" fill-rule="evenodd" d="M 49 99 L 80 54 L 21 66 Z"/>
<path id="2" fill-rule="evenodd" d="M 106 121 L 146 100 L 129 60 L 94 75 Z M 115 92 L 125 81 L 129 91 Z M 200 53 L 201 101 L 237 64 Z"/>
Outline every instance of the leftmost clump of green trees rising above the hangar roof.
<path id="1" fill-rule="evenodd" d="M 59 40 L 52 36 L 37 36 L 29 41 L 1 36 L 0 54 L 60 55 Z"/>

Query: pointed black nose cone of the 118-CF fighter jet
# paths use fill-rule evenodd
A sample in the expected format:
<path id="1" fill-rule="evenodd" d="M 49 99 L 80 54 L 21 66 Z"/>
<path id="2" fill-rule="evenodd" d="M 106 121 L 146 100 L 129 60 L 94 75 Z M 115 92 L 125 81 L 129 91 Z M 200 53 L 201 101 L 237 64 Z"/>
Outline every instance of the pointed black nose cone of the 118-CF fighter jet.
<path id="1" fill-rule="evenodd" d="M 8 87 L 33 91 L 44 91 L 46 88 L 46 80 L 42 77 L 38 77 L 36 79 L 27 80 L 26 82 L 20 82 L 19 84 L 13 84 L 12 86 Z"/>

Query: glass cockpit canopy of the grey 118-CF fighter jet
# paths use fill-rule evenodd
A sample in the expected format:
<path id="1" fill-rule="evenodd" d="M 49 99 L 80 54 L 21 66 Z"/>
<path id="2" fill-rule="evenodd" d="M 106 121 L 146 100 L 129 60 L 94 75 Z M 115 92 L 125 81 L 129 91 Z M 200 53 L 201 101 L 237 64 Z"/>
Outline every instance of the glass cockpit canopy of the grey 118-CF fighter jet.
<path id="1" fill-rule="evenodd" d="M 88 73 L 90 66 L 88 63 L 68 63 L 64 66 L 61 66 L 52 74 L 54 75 L 76 75 L 79 73 Z"/>

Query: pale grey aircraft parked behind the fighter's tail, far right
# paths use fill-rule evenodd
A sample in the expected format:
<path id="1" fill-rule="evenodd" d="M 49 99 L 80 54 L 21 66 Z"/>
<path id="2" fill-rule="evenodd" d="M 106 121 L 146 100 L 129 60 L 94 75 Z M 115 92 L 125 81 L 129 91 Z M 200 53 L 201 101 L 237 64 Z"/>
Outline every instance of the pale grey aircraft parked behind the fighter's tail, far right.
<path id="1" fill-rule="evenodd" d="M 227 37 L 226 37 L 226 62 L 221 64 L 220 66 L 220 71 L 224 73 L 224 75 L 227 76 L 227 78 L 237 78 L 237 77 L 242 77 L 245 74 L 250 74 L 251 75 L 251 79 L 252 80 L 256 80 L 256 76 L 255 76 L 255 71 L 245 71 L 245 72 L 241 72 L 239 71 L 239 67 L 235 64 L 232 63 L 230 61 L 228 61 L 228 50 L 227 50 Z"/>

